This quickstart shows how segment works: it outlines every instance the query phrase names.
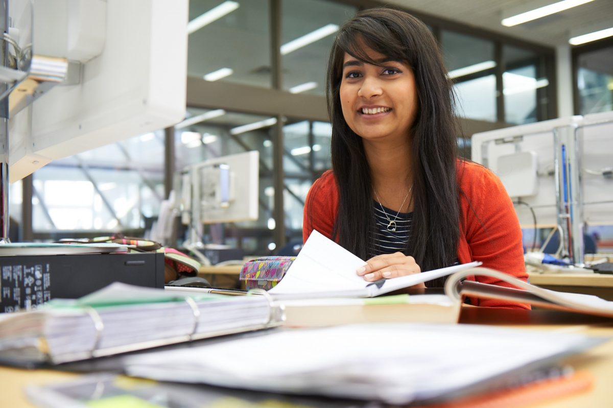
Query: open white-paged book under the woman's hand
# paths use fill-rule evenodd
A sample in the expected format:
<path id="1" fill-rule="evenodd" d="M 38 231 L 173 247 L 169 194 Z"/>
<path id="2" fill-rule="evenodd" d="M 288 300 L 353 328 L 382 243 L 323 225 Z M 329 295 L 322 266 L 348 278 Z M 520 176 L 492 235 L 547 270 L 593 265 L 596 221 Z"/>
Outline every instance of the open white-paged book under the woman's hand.
<path id="1" fill-rule="evenodd" d="M 313 230 L 283 279 L 268 290 L 268 293 L 275 300 L 375 297 L 474 268 L 481 265 L 481 262 L 448 266 L 377 282 L 367 282 L 362 276 L 358 276 L 357 268 L 364 265 L 364 260 Z"/>

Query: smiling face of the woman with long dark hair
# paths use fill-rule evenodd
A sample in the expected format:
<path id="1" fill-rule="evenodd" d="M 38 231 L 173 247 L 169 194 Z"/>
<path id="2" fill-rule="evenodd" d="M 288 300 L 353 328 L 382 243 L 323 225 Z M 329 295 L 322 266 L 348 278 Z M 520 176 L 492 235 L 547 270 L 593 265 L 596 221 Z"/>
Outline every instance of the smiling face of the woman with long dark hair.
<path id="1" fill-rule="evenodd" d="M 408 140 L 417 111 L 413 69 L 400 61 L 366 49 L 373 61 L 365 64 L 345 53 L 340 86 L 345 121 L 366 140 Z"/>

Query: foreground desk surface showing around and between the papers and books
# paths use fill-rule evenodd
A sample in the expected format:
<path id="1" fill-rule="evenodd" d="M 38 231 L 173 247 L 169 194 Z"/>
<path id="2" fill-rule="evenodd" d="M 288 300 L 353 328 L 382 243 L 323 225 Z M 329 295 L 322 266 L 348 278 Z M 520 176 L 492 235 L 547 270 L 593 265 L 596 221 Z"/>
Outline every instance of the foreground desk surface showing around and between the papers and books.
<path id="1" fill-rule="evenodd" d="M 392 306 L 392 305 L 387 305 Z M 392 307 L 398 315 L 402 314 L 408 304 L 396 304 Z M 376 309 L 378 305 L 363 306 Z M 387 313 L 389 308 L 376 309 Z M 351 317 L 347 323 L 356 323 Z M 291 320 L 288 322 L 292 324 Z M 613 337 L 613 320 L 597 316 L 585 316 L 569 312 L 535 310 L 521 311 L 494 308 L 476 308 L 463 306 L 460 313 L 460 323 L 508 325 L 518 328 L 536 330 L 577 331 L 595 336 Z M 576 407 L 606 407 L 611 404 L 611 379 L 613 379 L 613 341 L 593 347 L 581 355 L 568 359 L 568 363 L 577 370 L 591 372 L 595 377 L 592 391 L 568 396 L 559 401 L 539 404 L 538 408 L 576 408 Z M 50 383 L 70 380 L 77 374 L 51 370 L 24 370 L 0 367 L 0 406 L 11 408 L 33 407 L 26 400 L 23 387 L 29 383 Z"/>

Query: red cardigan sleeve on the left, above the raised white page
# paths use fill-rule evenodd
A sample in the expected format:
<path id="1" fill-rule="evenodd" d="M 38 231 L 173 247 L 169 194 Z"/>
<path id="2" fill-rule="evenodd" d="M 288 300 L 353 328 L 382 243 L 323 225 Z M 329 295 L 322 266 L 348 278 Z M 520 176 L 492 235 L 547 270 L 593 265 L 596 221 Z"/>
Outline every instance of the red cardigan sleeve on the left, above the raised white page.
<path id="1" fill-rule="evenodd" d="M 313 230 L 332 239 L 337 208 L 336 182 L 333 173 L 328 170 L 308 191 L 302 219 L 302 241 L 306 242 Z"/>

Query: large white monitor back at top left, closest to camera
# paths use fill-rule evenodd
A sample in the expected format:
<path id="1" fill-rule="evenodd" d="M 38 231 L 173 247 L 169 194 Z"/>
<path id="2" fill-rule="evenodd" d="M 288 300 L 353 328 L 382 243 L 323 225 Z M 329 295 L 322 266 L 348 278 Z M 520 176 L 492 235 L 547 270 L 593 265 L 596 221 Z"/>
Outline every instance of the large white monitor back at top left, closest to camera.
<path id="1" fill-rule="evenodd" d="M 181 121 L 187 23 L 187 0 L 34 0 L 34 53 L 83 66 L 12 118 L 10 181 Z"/>

